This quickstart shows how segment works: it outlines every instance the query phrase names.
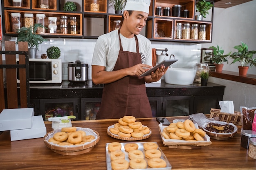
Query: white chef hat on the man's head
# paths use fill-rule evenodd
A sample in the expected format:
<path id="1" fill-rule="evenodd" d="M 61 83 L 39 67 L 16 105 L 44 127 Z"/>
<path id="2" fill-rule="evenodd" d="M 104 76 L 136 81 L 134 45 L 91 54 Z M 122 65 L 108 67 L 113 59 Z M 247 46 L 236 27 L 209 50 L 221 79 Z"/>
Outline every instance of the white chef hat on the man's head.
<path id="1" fill-rule="evenodd" d="M 126 0 L 124 11 L 149 12 L 150 0 Z"/>

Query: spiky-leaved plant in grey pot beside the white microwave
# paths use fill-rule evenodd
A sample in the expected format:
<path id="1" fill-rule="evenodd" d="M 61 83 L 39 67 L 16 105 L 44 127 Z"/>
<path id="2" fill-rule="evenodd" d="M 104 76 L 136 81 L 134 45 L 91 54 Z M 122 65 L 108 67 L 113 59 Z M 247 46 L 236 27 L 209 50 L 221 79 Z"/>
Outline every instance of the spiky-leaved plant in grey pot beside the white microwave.
<path id="1" fill-rule="evenodd" d="M 38 35 L 36 33 L 38 27 L 43 27 L 47 29 L 42 24 L 34 24 L 33 26 L 29 27 L 23 26 L 18 29 L 18 38 L 16 41 L 16 45 L 18 44 L 18 42 L 27 42 L 29 58 L 35 58 L 36 51 L 38 50 L 38 45 L 42 44 L 44 41 L 48 41 L 47 39 L 44 39 L 41 35 Z"/>

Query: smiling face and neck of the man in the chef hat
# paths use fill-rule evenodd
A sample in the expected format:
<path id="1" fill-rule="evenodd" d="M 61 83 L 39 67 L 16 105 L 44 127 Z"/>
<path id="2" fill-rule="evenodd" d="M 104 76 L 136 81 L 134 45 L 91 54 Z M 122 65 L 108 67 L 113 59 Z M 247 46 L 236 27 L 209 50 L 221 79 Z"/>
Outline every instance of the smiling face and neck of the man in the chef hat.
<path id="1" fill-rule="evenodd" d="M 128 11 L 124 11 L 123 16 L 124 21 L 120 33 L 126 38 L 132 38 L 134 34 L 138 35 L 148 19 L 148 13 L 141 11 L 132 11 L 130 15 Z"/>

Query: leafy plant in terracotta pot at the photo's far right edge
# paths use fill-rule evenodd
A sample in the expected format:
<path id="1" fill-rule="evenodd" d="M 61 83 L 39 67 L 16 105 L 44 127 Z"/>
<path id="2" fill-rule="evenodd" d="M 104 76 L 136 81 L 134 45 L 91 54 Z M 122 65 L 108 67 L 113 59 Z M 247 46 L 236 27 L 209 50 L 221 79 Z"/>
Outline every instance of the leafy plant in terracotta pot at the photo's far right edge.
<path id="1" fill-rule="evenodd" d="M 231 64 L 240 62 L 241 66 L 238 66 L 239 75 L 247 75 L 249 66 L 256 66 L 256 57 L 253 58 L 253 55 L 256 54 L 256 51 L 248 51 L 247 44 L 243 42 L 241 42 L 240 45 L 234 46 L 234 49 L 237 49 L 238 52 L 232 53 L 230 55 L 230 58 L 234 59 Z M 248 64 L 250 65 L 247 66 Z"/>

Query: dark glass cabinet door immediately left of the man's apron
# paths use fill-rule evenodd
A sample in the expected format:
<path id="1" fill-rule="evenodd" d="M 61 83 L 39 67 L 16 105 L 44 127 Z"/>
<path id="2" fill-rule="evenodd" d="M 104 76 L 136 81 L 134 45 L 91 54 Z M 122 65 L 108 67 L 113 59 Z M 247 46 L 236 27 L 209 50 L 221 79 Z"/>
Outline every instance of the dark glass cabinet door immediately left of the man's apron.
<path id="1" fill-rule="evenodd" d="M 101 98 L 81 99 L 81 119 L 95 120 L 101 106 Z"/>

